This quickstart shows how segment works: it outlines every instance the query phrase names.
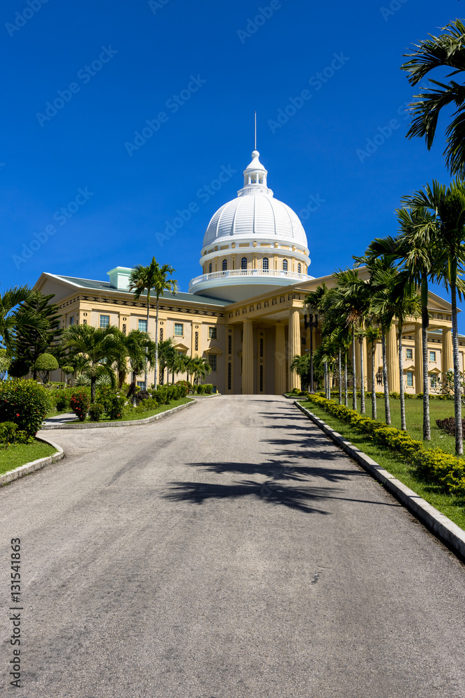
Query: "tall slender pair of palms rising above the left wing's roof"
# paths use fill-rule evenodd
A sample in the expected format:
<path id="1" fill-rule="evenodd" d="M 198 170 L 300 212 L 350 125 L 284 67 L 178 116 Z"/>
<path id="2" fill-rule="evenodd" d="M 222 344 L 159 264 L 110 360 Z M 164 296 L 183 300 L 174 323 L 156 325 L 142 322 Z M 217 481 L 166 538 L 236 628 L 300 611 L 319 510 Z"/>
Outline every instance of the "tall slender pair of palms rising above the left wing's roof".
<path id="1" fill-rule="evenodd" d="M 158 384 L 158 305 L 160 296 L 162 296 L 166 290 L 169 290 L 173 295 L 176 293 L 178 288 L 177 281 L 168 278 L 174 271 L 175 269 L 168 264 L 160 267 L 155 257 L 153 257 L 151 263 L 147 267 L 143 267 L 142 265 L 132 267 L 129 276 L 129 290 L 134 291 L 135 299 L 139 300 L 144 292 L 146 292 L 147 295 L 147 332 L 151 290 L 155 291 L 157 299 L 155 315 L 155 389 Z M 145 386 L 147 387 L 147 363 L 145 367 Z"/>

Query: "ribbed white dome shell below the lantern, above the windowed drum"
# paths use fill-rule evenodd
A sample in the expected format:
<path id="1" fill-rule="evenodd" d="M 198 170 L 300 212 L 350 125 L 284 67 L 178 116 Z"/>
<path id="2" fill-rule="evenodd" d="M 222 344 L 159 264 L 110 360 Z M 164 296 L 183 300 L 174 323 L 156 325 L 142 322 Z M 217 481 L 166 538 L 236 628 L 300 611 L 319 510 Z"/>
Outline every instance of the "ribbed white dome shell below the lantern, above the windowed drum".
<path id="1" fill-rule="evenodd" d="M 234 242 L 231 237 L 287 241 L 307 247 L 307 236 L 297 214 L 273 194 L 257 189 L 238 196 L 216 211 L 208 223 L 204 247 L 217 241 Z"/>

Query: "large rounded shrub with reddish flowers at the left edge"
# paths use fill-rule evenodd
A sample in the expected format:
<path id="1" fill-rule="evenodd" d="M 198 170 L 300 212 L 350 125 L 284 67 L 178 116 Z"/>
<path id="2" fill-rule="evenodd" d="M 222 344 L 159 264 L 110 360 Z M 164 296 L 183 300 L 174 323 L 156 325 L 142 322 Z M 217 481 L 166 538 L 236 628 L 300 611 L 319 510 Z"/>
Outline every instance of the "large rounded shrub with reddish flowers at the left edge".
<path id="1" fill-rule="evenodd" d="M 20 431 L 36 436 L 52 407 L 49 390 L 35 380 L 0 381 L 0 422 L 15 422 Z"/>

